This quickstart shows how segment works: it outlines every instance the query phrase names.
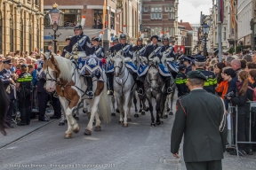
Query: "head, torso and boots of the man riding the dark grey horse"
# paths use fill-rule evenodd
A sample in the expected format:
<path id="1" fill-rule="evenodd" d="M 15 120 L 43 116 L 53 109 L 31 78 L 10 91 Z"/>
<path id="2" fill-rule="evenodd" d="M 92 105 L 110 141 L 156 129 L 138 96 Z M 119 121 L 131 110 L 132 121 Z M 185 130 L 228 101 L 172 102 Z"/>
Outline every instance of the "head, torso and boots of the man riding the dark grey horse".
<path id="1" fill-rule="evenodd" d="M 160 60 L 162 58 L 162 52 L 161 51 L 162 51 L 163 47 L 157 45 L 158 41 L 161 41 L 161 40 L 159 40 L 159 37 L 157 35 L 151 36 L 152 44 L 148 45 L 148 47 L 146 49 L 146 52 L 145 52 L 145 57 L 148 58 L 148 62 L 150 62 L 151 60 L 153 60 L 153 58 L 156 58 L 156 57 L 158 57 Z M 170 79 L 171 79 L 171 76 L 170 77 L 164 77 L 165 85 L 167 87 L 167 94 L 172 93 Z M 138 93 L 140 93 L 140 92 L 141 91 L 138 90 Z"/>

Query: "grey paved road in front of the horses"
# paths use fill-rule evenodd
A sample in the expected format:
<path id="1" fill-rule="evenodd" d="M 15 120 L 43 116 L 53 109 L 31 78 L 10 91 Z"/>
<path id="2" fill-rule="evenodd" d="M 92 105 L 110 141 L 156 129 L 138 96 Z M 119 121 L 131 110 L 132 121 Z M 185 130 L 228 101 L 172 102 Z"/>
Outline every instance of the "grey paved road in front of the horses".
<path id="1" fill-rule="evenodd" d="M 12 142 L 15 134 L 25 135 L 44 126 L 2 148 L 0 169 L 186 169 L 182 158 L 174 159 L 170 153 L 174 116 L 156 128 L 149 126 L 149 112 L 140 118 L 132 117 L 128 128 L 118 124 L 118 117 L 112 117 L 109 124 L 102 124 L 101 132 L 93 131 L 92 136 L 84 135 L 88 123 L 85 114 L 79 117 L 81 131 L 68 140 L 63 138 L 67 125 L 59 127 L 59 121 L 46 126 L 45 122 L 32 121 L 29 127 L 10 129 L 8 136 L 0 136 L 2 144 Z M 225 153 L 223 169 L 256 169 L 255 159 L 255 156 L 236 158 Z"/>

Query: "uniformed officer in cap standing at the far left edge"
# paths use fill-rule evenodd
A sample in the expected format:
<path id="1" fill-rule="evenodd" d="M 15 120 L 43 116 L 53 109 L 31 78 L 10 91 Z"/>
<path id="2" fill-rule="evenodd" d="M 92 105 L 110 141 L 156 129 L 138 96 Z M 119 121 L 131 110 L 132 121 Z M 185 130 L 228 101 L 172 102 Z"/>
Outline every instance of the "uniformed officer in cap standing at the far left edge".
<path id="1" fill-rule="evenodd" d="M 14 128 L 11 124 L 12 120 L 12 112 L 13 112 L 13 104 L 14 100 L 16 99 L 15 96 L 15 82 L 12 79 L 12 72 L 11 72 L 11 59 L 3 60 L 4 69 L 0 72 L 0 78 L 3 81 L 4 89 L 7 93 L 9 98 L 9 108 L 6 113 L 6 124 L 9 128 Z"/>

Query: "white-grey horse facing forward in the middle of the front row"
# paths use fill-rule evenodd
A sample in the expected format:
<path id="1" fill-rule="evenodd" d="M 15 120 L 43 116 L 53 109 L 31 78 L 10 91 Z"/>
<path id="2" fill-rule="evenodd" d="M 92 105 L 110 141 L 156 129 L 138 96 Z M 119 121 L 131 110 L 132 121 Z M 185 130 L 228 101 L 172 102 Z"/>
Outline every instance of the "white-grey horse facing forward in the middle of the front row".
<path id="1" fill-rule="evenodd" d="M 114 91 L 117 107 L 120 112 L 119 123 L 123 123 L 123 127 L 128 127 L 127 120 L 131 121 L 132 97 L 136 89 L 136 85 L 132 74 L 129 73 L 125 66 L 125 62 L 132 61 L 132 59 L 124 58 L 122 53 L 118 53 L 115 57 L 111 58 L 111 60 L 114 62 Z"/>

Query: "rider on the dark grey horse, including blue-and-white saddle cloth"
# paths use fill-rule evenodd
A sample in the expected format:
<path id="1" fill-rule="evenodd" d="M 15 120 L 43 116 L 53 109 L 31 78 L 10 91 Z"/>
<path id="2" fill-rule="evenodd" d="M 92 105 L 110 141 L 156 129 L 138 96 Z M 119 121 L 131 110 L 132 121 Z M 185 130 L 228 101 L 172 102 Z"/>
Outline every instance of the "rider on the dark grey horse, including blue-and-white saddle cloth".
<path id="1" fill-rule="evenodd" d="M 152 44 L 148 45 L 145 55 L 144 55 L 148 59 L 148 64 L 150 64 L 150 62 L 156 57 L 158 57 L 161 61 L 161 58 L 163 56 L 163 52 L 162 52 L 163 46 L 158 46 L 157 42 L 161 42 L 161 36 L 163 36 L 163 35 L 164 34 L 162 33 L 160 36 L 158 36 L 158 35 L 151 36 Z M 161 63 L 158 63 L 158 69 L 159 69 L 160 75 L 164 77 L 165 86 L 167 87 L 167 94 L 171 94 L 172 93 L 171 82 L 170 82 L 171 74 Z M 143 64 L 140 65 L 140 69 L 138 70 L 138 74 L 140 76 L 140 81 L 144 81 L 146 73 L 148 73 L 148 66 L 145 64 L 144 64 L 144 66 L 143 66 Z M 143 95 L 143 90 L 138 89 L 138 93 L 140 95 Z"/>

